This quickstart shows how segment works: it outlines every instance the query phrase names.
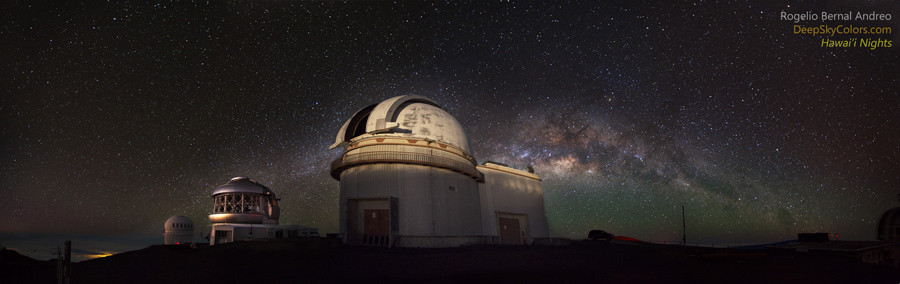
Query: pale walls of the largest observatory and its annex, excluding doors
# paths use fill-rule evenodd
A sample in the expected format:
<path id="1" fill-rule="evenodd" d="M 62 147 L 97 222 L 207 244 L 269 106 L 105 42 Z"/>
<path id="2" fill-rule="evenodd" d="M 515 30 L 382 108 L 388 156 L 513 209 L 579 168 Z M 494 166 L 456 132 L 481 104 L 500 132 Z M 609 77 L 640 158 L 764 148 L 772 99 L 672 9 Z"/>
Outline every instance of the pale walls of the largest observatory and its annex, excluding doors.
<path id="1" fill-rule="evenodd" d="M 362 233 L 357 215 L 365 209 L 388 209 L 388 200 L 396 198 L 399 228 L 396 238 L 392 237 L 396 246 L 499 244 L 501 217 L 520 221 L 526 244 L 549 238 L 537 176 L 498 165 L 478 170 L 484 173 L 484 183 L 424 165 L 377 163 L 348 168 L 340 175 L 341 233 L 356 243 L 356 235 Z"/>

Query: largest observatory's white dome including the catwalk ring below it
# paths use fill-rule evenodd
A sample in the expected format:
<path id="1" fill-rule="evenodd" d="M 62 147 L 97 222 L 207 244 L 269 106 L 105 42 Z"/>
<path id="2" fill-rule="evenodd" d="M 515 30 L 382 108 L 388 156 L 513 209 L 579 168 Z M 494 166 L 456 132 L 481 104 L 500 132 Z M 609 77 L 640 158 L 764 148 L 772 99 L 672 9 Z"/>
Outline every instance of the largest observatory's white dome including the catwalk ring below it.
<path id="1" fill-rule="evenodd" d="M 475 168 L 462 125 L 421 96 L 393 97 L 360 109 L 344 123 L 329 149 L 340 146 L 344 153 L 331 164 L 331 176 L 338 180 L 345 170 L 363 164 L 422 165 L 476 181 L 483 177 Z"/>

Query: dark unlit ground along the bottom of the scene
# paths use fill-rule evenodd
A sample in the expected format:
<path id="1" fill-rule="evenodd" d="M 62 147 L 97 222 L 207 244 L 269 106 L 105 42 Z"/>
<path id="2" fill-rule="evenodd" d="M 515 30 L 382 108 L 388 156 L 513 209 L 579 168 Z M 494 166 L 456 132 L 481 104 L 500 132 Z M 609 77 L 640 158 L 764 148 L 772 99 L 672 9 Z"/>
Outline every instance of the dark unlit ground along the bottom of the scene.
<path id="1" fill-rule="evenodd" d="M 333 240 L 151 246 L 72 265 L 72 283 L 554 282 L 900 283 L 855 259 L 655 244 L 451 249 L 342 247 Z M 55 262 L 4 250 L 0 283 L 55 283 Z"/>

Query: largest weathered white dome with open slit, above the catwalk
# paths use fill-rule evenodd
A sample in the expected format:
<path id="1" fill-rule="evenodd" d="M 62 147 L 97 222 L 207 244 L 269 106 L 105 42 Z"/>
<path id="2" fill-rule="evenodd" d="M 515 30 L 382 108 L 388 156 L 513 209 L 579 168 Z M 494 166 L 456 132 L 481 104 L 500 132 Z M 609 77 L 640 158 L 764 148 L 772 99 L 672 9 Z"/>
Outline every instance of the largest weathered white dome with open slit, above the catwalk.
<path id="1" fill-rule="evenodd" d="M 459 121 L 421 96 L 393 97 L 360 109 L 341 127 L 331 148 L 374 135 L 428 139 L 472 153 Z"/>

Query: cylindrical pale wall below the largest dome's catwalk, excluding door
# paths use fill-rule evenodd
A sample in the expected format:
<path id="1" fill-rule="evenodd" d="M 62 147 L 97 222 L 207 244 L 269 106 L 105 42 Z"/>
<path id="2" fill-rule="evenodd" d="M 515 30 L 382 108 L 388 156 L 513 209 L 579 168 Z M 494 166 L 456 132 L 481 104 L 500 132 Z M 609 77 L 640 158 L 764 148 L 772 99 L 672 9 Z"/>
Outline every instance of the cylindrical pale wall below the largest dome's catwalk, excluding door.
<path id="1" fill-rule="evenodd" d="M 365 164 L 341 172 L 341 233 L 348 232 L 348 200 L 394 197 L 399 235 L 480 236 L 478 185 L 446 169 L 399 163 Z M 451 188 L 452 187 L 452 188 Z"/>

